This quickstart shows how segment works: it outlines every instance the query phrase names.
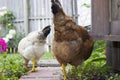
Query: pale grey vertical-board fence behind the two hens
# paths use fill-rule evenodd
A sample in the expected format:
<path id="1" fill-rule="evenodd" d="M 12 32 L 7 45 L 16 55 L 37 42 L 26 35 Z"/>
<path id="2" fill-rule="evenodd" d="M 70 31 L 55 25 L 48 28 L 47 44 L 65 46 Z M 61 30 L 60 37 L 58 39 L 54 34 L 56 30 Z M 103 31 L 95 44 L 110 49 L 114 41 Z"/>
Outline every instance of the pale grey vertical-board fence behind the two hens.
<path id="1" fill-rule="evenodd" d="M 27 3 L 26 1 L 28 1 L 29 6 L 25 5 Z M 64 7 L 64 11 L 70 16 L 73 16 L 73 10 L 75 10 L 75 7 L 71 5 L 72 1 L 74 0 L 60 0 L 62 6 Z M 42 26 L 45 27 L 46 25 L 53 24 L 51 13 L 51 0 L 1 0 L 0 8 L 1 7 L 7 7 L 7 9 L 11 10 L 14 13 L 16 17 L 15 24 L 18 31 L 20 32 L 25 32 L 25 29 L 23 30 L 23 28 L 19 30 L 19 27 L 24 27 L 25 17 L 28 17 L 29 20 L 26 20 L 28 20 L 28 22 L 31 22 L 29 24 L 32 24 L 29 25 L 30 32 L 33 30 L 42 29 Z M 29 9 L 25 9 L 27 7 Z M 29 13 L 29 15 L 24 15 L 24 13 L 27 14 L 26 11 Z M 31 30 L 31 28 L 33 27 L 35 27 L 35 29 Z"/>

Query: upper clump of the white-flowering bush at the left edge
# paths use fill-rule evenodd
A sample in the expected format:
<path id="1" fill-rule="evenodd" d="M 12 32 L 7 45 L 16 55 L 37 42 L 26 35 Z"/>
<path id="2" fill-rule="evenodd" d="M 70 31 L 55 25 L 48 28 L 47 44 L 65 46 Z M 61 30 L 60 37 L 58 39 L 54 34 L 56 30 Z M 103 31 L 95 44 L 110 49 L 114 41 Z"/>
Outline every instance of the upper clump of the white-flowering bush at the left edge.
<path id="1" fill-rule="evenodd" d="M 4 37 L 10 29 L 15 29 L 13 21 L 15 20 L 15 16 L 12 11 L 8 9 L 0 9 L 0 24 L 1 24 L 1 34 L 0 37 Z M 4 32 L 2 32 L 4 31 Z"/>

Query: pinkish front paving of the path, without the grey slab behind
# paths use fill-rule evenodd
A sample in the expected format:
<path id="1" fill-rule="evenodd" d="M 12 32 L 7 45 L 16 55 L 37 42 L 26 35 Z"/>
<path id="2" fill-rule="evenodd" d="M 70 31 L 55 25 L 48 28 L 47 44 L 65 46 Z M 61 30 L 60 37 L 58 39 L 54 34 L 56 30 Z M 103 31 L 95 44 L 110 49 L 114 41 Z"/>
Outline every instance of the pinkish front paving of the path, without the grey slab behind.
<path id="1" fill-rule="evenodd" d="M 62 80 L 60 67 L 38 67 L 37 72 L 28 73 L 19 80 Z"/>

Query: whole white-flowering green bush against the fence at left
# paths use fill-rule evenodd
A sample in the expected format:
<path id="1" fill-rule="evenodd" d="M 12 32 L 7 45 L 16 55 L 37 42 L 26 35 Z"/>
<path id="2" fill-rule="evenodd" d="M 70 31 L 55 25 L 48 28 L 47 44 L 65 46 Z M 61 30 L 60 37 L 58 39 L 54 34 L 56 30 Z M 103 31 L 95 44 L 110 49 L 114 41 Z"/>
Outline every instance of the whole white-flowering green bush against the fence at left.
<path id="1" fill-rule="evenodd" d="M 6 27 L 6 33 L 0 36 L 6 40 L 8 48 L 17 48 L 19 41 L 24 37 L 22 33 L 16 33 L 13 20 L 15 20 L 15 16 L 12 11 L 7 9 L 2 11 L 0 15 L 0 24 Z"/>

